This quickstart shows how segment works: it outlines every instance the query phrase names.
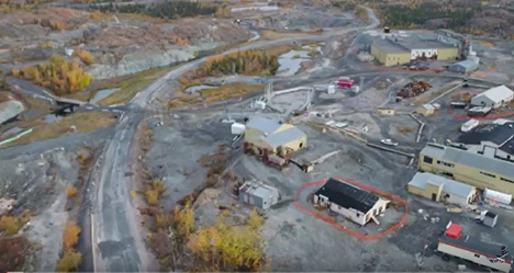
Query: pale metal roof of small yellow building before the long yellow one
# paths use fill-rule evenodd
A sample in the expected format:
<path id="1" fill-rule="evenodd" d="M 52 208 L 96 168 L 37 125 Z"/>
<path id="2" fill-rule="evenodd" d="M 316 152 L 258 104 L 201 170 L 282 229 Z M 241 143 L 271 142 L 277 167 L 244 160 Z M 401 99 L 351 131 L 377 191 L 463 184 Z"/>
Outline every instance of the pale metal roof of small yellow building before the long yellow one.
<path id="1" fill-rule="evenodd" d="M 426 184 L 433 184 L 436 186 L 443 185 L 443 192 L 465 198 L 467 198 L 474 190 L 473 186 L 470 186 L 468 184 L 460 183 L 439 175 L 435 175 L 428 172 L 417 172 L 414 175 L 414 178 L 412 178 L 411 182 L 409 182 L 409 184 L 420 189 L 425 189 Z"/>

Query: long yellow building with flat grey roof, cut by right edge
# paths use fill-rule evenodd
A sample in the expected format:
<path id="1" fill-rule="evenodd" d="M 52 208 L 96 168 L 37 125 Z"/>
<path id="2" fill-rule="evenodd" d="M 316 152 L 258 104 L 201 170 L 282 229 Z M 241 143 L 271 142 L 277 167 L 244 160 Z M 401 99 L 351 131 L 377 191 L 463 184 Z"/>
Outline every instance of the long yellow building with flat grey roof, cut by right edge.
<path id="1" fill-rule="evenodd" d="M 420 152 L 420 170 L 443 174 L 478 189 L 514 194 L 514 159 L 499 159 L 495 148 L 482 153 L 427 144 Z"/>

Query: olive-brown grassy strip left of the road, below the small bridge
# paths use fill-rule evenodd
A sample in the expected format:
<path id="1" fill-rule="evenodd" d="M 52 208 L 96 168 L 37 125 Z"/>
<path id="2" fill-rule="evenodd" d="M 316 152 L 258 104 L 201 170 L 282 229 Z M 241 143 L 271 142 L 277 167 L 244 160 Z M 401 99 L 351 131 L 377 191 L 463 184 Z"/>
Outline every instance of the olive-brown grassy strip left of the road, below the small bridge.
<path id="1" fill-rule="evenodd" d="M 12 143 L 5 144 L 1 148 L 57 138 L 67 134 L 72 125 L 77 127 L 77 133 L 82 134 L 99 128 L 110 127 L 115 123 L 116 118 L 114 118 L 114 115 L 111 113 L 74 113 L 54 123 L 41 124 L 30 134 L 26 134 Z"/>

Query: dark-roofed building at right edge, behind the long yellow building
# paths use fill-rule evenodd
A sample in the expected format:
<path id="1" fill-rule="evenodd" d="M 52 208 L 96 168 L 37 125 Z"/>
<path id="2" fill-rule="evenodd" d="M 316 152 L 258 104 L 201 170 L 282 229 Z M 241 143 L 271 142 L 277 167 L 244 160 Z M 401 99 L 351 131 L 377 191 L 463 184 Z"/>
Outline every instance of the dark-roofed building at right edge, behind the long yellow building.
<path id="1" fill-rule="evenodd" d="M 514 159 L 514 121 L 478 125 L 460 135 L 452 146 L 466 147 L 469 151 L 482 152 L 495 149 L 495 157 Z"/>

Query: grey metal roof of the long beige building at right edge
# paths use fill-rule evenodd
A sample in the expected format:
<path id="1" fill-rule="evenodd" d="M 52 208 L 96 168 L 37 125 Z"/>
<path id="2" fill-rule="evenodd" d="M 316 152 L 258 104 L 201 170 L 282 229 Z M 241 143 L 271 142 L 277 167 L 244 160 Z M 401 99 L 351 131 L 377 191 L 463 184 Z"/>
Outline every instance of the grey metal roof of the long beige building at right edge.
<path id="1" fill-rule="evenodd" d="M 469 166 L 485 172 L 503 175 L 506 179 L 514 178 L 514 163 L 496 158 L 489 158 L 468 150 L 440 145 L 427 145 L 420 155 Z"/>

